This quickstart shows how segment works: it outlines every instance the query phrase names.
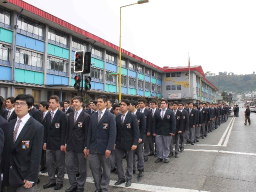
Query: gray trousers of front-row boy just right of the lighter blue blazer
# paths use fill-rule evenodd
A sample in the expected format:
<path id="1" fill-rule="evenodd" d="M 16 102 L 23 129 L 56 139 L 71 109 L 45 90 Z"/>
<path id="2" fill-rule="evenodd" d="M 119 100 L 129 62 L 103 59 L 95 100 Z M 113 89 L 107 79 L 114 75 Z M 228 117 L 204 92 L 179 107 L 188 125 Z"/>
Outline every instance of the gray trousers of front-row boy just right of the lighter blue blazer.
<path id="1" fill-rule="evenodd" d="M 123 174 L 123 167 L 122 167 L 122 158 L 123 153 L 126 153 L 126 162 L 127 162 L 127 168 L 126 168 L 126 180 L 132 179 L 132 172 L 133 172 L 133 150 L 124 150 L 121 148 L 115 148 L 115 164 L 116 164 L 116 172 L 119 179 L 125 179 Z"/>

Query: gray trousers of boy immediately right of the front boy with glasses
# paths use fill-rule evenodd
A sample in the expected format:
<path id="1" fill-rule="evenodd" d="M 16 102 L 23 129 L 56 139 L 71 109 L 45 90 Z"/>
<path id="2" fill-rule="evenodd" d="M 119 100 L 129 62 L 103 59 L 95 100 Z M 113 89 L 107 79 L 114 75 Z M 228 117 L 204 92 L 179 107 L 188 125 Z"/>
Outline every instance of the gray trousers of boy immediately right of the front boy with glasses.
<path id="1" fill-rule="evenodd" d="M 55 179 L 54 158 L 58 169 L 57 179 Z M 46 166 L 50 183 L 63 183 L 65 174 L 65 152 L 61 150 L 46 149 Z"/>

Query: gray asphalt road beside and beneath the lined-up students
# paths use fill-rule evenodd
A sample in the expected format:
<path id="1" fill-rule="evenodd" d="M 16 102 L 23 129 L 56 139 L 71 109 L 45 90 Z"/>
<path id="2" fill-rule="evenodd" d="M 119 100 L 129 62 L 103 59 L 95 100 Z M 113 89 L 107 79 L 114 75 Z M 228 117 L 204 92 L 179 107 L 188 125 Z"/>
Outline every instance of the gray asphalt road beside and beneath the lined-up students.
<path id="1" fill-rule="evenodd" d="M 256 191 L 256 113 L 251 114 L 251 125 L 244 125 L 243 111 L 239 117 L 229 115 L 227 122 L 194 145 L 185 145 L 179 157 L 171 157 L 169 163 L 155 163 L 149 156 L 145 162 L 143 177 L 133 174 L 130 187 L 113 186 L 117 175 L 111 173 L 109 191 Z M 123 160 L 123 166 L 126 162 Z M 37 191 L 43 189 L 47 176 L 40 175 Z M 69 188 L 67 175 L 60 191 Z M 84 191 L 94 191 L 94 183 L 87 161 L 87 180 Z"/>

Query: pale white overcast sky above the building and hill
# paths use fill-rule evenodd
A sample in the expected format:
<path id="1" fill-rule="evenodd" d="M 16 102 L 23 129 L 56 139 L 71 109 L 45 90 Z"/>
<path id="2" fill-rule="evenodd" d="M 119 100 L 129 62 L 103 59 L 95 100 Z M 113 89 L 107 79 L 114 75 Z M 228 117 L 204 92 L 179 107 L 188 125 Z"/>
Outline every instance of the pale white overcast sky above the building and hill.
<path id="1" fill-rule="evenodd" d="M 119 45 L 119 7 L 136 0 L 24 0 Z M 158 66 L 249 74 L 256 0 L 149 0 L 122 8 L 121 47 Z M 80 18 L 79 20 L 75 20 Z"/>

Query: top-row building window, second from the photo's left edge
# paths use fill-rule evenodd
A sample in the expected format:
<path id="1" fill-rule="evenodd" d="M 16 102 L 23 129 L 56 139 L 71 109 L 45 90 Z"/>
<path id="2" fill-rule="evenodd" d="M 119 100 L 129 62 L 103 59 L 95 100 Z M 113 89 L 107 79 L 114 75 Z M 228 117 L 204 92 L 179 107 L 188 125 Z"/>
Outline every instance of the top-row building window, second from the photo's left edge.
<path id="1" fill-rule="evenodd" d="M 27 18 L 23 15 L 18 17 L 18 28 L 38 36 L 43 36 L 43 24 L 36 20 Z"/>

